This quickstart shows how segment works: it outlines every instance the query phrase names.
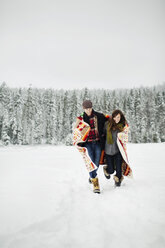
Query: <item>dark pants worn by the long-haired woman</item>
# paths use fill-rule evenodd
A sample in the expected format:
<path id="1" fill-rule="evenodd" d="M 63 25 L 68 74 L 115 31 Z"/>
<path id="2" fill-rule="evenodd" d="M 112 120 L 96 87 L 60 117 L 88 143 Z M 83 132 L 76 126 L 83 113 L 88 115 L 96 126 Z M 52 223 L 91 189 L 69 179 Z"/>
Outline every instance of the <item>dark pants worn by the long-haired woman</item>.
<path id="1" fill-rule="evenodd" d="M 122 161 L 123 158 L 121 156 L 121 153 L 118 152 L 115 155 L 106 155 L 106 161 L 107 161 L 107 172 L 109 174 L 113 174 L 116 170 L 116 176 L 120 179 L 122 177 Z"/>

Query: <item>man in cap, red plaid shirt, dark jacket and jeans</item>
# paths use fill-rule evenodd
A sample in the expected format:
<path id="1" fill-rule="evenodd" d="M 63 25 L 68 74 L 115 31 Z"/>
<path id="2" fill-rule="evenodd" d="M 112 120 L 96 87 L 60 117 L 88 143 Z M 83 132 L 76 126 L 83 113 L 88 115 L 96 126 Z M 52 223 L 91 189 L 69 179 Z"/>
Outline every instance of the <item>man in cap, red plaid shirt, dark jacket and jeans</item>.
<path id="1" fill-rule="evenodd" d="M 87 148 L 89 157 L 98 169 L 101 151 L 104 149 L 103 128 L 107 118 L 102 113 L 94 111 L 90 100 L 85 100 L 82 106 L 84 109 L 82 115 L 83 120 L 88 123 L 91 128 L 83 146 Z M 97 169 L 89 172 L 89 182 L 93 184 L 94 193 L 100 193 Z"/>

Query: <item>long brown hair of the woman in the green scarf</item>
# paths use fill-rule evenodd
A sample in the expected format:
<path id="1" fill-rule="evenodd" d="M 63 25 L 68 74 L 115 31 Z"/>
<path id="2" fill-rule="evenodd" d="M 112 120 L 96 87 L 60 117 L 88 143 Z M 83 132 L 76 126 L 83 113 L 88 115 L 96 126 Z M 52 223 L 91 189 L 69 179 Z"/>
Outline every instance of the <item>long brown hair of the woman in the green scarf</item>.
<path id="1" fill-rule="evenodd" d="M 116 123 L 113 118 L 116 117 L 118 114 L 120 114 L 121 118 L 120 118 L 119 123 Z M 118 124 L 123 124 L 123 127 L 124 127 L 127 124 L 127 121 L 125 119 L 123 112 L 119 109 L 116 109 L 112 112 L 112 116 L 109 118 L 109 123 L 110 123 L 109 129 L 116 130 L 118 129 L 118 126 L 117 126 Z"/>

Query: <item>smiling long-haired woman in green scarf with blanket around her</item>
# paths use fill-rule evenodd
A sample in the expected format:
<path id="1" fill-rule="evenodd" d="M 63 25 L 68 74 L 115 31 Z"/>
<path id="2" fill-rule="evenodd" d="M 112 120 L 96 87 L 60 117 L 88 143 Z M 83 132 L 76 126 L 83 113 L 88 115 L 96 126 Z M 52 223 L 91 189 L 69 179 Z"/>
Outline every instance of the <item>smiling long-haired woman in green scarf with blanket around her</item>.
<path id="1" fill-rule="evenodd" d="M 112 116 L 105 123 L 105 157 L 107 166 L 103 167 L 104 175 L 110 179 L 114 175 L 115 186 L 120 186 L 125 176 L 131 176 L 132 170 L 129 167 L 126 142 L 128 141 L 128 123 L 120 110 L 115 110 Z"/>

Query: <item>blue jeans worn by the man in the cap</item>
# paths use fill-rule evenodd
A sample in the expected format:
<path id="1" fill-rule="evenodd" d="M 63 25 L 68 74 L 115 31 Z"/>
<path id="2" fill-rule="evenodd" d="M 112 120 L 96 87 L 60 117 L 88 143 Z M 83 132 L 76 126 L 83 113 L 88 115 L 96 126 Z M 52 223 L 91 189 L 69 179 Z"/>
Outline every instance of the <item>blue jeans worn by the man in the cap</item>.
<path id="1" fill-rule="evenodd" d="M 84 146 L 88 150 L 89 157 L 91 158 L 92 162 L 99 168 L 99 162 L 101 157 L 101 146 L 99 142 L 86 142 Z M 97 169 L 98 169 L 97 168 Z M 97 176 L 97 170 L 89 172 L 89 176 L 91 178 L 95 178 Z"/>

